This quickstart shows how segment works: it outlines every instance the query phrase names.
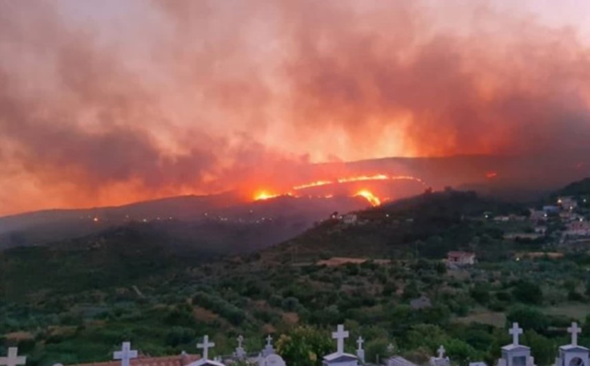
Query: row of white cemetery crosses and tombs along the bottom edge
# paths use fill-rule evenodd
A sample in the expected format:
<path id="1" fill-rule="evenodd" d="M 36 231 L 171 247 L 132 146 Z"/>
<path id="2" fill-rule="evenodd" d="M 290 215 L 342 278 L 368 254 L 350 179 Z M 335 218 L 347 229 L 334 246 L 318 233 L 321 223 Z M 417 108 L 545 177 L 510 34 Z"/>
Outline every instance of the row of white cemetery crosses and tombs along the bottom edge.
<path id="1" fill-rule="evenodd" d="M 509 329 L 512 343 L 505 345 L 501 349 L 501 356 L 495 365 L 489 366 L 536 366 L 535 359 L 531 356 L 531 349 L 520 344 L 520 336 L 523 331 L 518 323 L 513 323 Z M 590 349 L 578 345 L 578 334 L 582 329 L 578 323 L 572 323 L 567 329 L 571 335 L 568 345 L 559 347 L 558 357 L 553 366 L 588 366 L 590 362 Z M 349 338 L 349 332 L 345 330 L 344 325 L 338 325 L 336 332 L 332 333 L 332 338 L 336 340 L 336 351 L 323 356 L 323 366 L 418 366 L 411 361 L 394 354 L 394 346 L 389 345 L 389 356 L 378 363 L 379 360 L 372 362 L 365 360 L 365 350 L 363 349 L 364 340 L 358 337 L 356 344 L 358 348 L 355 354 L 345 352 L 345 341 Z M 248 353 L 243 347 L 243 336 L 236 338 L 236 349 L 233 354 L 210 356 L 210 350 L 215 347 L 215 343 L 210 341 L 209 336 L 205 335 L 202 341 L 196 344 L 196 348 L 201 350 L 199 355 L 190 355 L 185 352 L 179 357 L 161 357 L 151 358 L 141 356 L 137 349 L 132 349 L 130 342 L 123 342 L 119 351 L 113 352 L 112 362 L 106 363 L 88 363 L 75 366 L 230 366 L 230 365 L 250 365 L 250 366 L 286 366 L 287 363 L 283 357 L 276 352 L 272 344 L 272 336 L 267 336 L 264 349 L 259 352 Z M 440 345 L 436 351 L 436 356 L 432 356 L 424 366 L 451 366 L 456 365 L 448 356 L 445 356 L 445 347 Z M 294 364 L 298 364 L 297 361 Z M 17 347 L 8 348 L 8 354 L 0 357 L 0 366 L 26 366 L 27 356 L 19 355 Z M 64 366 L 55 364 L 53 366 Z M 74 366 L 74 365 L 67 365 Z M 482 361 L 470 362 L 469 366 L 487 366 Z"/>

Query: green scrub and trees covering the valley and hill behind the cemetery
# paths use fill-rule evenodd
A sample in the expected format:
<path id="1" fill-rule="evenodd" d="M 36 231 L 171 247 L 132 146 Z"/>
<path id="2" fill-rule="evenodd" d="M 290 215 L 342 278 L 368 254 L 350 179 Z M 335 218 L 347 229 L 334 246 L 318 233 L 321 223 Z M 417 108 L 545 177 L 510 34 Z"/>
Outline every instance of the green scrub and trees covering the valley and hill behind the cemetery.
<path id="1" fill-rule="evenodd" d="M 439 345 L 458 363 L 492 363 L 509 343 L 507 322 L 539 365 L 567 342 L 572 320 L 590 345 L 590 256 L 550 238 L 507 241 L 508 225 L 484 212 L 523 207 L 472 193 L 425 194 L 359 212 L 356 225 L 324 221 L 292 241 L 255 254 L 214 258 L 190 245 L 122 227 L 99 238 L 0 254 L 0 353 L 19 345 L 30 365 L 107 360 L 122 340 L 152 356 L 196 352 L 209 334 L 214 354 L 229 354 L 238 334 L 250 351 L 266 334 L 289 365 L 319 365 L 334 349 L 329 332 L 345 323 L 363 336 L 367 360 L 387 345 L 423 361 Z M 472 267 L 447 269 L 449 250 L 478 255 Z M 562 258 L 519 258 L 560 250 Z M 318 265 L 338 257 L 364 263 Z M 387 260 L 387 261 L 379 261 Z M 362 261 L 360 261 L 362 262 Z M 420 296 L 429 300 L 412 306 Z"/>

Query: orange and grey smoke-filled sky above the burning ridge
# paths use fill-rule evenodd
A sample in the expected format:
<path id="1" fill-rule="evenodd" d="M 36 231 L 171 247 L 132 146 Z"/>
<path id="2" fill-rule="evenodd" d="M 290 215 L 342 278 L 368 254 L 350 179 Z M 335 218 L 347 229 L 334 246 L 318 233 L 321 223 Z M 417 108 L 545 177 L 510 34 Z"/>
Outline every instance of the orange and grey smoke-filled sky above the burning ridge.
<path id="1" fill-rule="evenodd" d="M 325 161 L 590 153 L 573 27 L 487 1 L 460 20 L 428 1 L 132 3 L 87 21 L 91 1 L 0 0 L 0 214 L 290 185 Z"/>

